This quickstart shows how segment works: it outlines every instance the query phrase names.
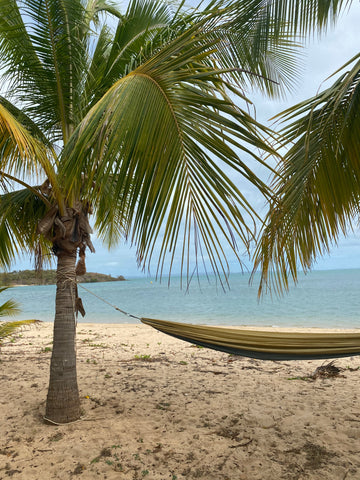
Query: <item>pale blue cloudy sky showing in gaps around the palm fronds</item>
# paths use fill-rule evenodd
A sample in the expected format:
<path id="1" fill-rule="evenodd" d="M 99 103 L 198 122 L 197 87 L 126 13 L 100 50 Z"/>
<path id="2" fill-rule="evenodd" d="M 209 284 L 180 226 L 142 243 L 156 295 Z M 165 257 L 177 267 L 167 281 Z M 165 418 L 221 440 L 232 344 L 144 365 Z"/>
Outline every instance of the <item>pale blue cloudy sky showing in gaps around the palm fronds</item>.
<path id="1" fill-rule="evenodd" d="M 295 92 L 288 94 L 285 100 L 274 101 L 265 99 L 259 94 L 249 93 L 249 98 L 256 106 L 257 119 L 266 123 L 272 116 L 287 106 L 293 105 L 316 94 L 321 83 L 347 60 L 359 51 L 360 3 L 354 2 L 349 13 L 344 13 L 335 28 L 329 28 L 326 34 L 318 39 L 315 37 L 305 48 L 304 66 L 299 73 L 299 85 Z M 270 125 L 270 123 L 268 123 Z M 252 199 L 254 202 L 256 198 Z M 119 245 L 111 252 L 102 246 L 96 235 L 93 235 L 96 253 L 87 254 L 87 270 L 124 275 L 126 278 L 148 275 L 138 269 L 136 264 L 136 249 L 129 245 Z M 251 269 L 251 264 L 248 263 Z M 33 268 L 31 262 L 24 258 L 17 262 L 12 270 Z M 314 269 L 360 268 L 360 229 L 352 232 L 347 238 L 340 239 L 338 246 L 332 248 L 329 255 L 318 260 Z M 175 267 L 175 273 L 178 269 Z M 240 271 L 240 266 L 231 261 L 231 272 Z M 155 273 L 155 269 L 154 272 Z"/>

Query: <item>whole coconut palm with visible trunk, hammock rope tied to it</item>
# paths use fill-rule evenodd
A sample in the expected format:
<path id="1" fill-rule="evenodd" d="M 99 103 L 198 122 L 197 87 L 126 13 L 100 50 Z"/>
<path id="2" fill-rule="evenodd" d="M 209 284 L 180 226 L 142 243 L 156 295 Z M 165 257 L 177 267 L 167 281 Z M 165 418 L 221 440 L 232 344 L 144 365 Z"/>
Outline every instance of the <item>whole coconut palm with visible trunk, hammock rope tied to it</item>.
<path id="1" fill-rule="evenodd" d="M 0 0 L 11 127 L 0 130 L 0 262 L 57 262 L 47 420 L 80 417 L 76 275 L 94 251 L 89 216 L 109 246 L 135 244 L 143 268 L 155 255 L 170 273 L 178 247 L 185 276 L 200 258 L 226 277 L 225 245 L 248 250 L 258 221 L 232 177 L 271 195 L 248 166 L 274 151 L 244 90 L 283 94 L 297 35 L 346 3 L 131 0 L 122 14 L 106 0 Z"/>

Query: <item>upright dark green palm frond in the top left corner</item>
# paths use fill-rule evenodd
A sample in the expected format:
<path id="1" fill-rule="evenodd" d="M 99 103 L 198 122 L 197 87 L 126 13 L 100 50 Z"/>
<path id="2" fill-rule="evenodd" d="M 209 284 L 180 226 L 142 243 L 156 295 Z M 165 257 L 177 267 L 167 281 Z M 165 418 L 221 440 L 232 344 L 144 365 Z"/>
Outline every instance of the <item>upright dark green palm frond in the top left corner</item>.
<path id="1" fill-rule="evenodd" d="M 82 2 L 1 1 L 0 16 L 0 51 L 7 78 L 14 78 L 11 87 L 17 101 L 54 132 L 54 140 L 61 132 L 66 141 L 87 69 L 86 44 L 79 35 L 85 21 Z"/>

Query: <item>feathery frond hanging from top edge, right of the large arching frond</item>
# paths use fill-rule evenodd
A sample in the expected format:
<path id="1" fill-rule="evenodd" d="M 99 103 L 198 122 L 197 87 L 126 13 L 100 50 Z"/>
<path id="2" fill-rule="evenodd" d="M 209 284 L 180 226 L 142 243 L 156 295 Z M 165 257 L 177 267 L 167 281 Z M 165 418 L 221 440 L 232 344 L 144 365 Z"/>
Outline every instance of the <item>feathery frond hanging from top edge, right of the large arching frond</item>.
<path id="1" fill-rule="evenodd" d="M 213 61 L 220 69 L 232 69 L 229 80 L 237 88 L 278 96 L 296 86 L 302 45 L 288 32 L 276 30 L 265 2 L 216 2 L 208 8 L 218 15 L 207 29 L 207 41 L 216 44 Z"/>

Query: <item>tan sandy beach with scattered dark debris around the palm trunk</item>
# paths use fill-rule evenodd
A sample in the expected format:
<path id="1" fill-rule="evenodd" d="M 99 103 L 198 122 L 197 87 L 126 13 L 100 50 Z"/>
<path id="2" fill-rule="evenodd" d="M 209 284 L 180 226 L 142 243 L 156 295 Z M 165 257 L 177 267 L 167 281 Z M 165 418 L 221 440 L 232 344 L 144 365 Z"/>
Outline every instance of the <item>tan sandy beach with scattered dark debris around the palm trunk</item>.
<path id="1" fill-rule="evenodd" d="M 0 479 L 359 480 L 360 358 L 259 361 L 78 325 L 83 418 L 43 422 L 52 324 L 0 352 Z"/>

